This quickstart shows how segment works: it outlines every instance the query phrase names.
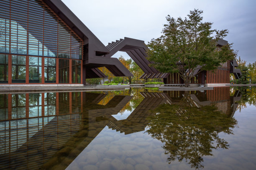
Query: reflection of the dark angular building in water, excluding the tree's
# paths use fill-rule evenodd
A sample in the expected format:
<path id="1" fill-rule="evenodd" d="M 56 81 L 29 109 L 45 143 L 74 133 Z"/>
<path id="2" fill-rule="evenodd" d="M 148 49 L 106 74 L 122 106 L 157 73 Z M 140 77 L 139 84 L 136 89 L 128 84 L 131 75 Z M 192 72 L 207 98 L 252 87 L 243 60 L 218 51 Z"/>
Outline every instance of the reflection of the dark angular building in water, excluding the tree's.
<path id="1" fill-rule="evenodd" d="M 65 169 L 108 126 L 124 134 L 145 130 L 159 105 L 186 99 L 198 107 L 215 104 L 233 116 L 240 93 L 229 87 L 210 91 L 147 92 L 125 120 L 113 116 L 133 96 L 96 92 L 0 94 L 0 168 Z M 223 95 L 225 94 L 225 95 Z M 186 98 L 187 97 L 187 98 Z M 189 98 L 188 98 L 189 97 Z"/>

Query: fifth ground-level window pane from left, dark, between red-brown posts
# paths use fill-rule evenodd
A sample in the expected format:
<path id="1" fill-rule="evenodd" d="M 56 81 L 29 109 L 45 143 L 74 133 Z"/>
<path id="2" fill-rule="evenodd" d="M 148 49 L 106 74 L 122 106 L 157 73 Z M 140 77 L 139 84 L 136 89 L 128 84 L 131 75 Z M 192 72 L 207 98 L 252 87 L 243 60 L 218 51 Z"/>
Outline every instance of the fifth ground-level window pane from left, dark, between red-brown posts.
<path id="1" fill-rule="evenodd" d="M 69 60 L 59 59 L 59 83 L 69 83 Z"/>

